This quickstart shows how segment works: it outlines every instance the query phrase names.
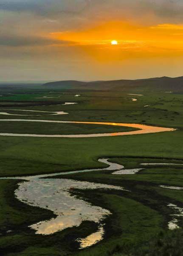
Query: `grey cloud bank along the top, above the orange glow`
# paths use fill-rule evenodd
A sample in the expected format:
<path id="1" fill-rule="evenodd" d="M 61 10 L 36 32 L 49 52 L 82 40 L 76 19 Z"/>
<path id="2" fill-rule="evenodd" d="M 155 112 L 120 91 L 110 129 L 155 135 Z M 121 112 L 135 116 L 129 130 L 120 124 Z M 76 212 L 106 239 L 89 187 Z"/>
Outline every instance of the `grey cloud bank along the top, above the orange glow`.
<path id="1" fill-rule="evenodd" d="M 182 0 L 0 0 L 1 31 L 48 35 L 110 20 L 156 26 L 183 23 Z"/>

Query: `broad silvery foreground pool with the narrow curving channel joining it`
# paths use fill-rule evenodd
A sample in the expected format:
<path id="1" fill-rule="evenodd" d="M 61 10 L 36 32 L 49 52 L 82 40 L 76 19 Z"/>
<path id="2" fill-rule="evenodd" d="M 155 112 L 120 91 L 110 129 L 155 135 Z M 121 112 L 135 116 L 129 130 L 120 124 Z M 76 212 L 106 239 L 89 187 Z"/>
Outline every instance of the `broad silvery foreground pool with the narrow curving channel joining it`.
<path id="1" fill-rule="evenodd" d="M 77 240 L 80 242 L 81 248 L 84 248 L 91 246 L 102 239 L 104 228 L 101 221 L 111 213 L 107 209 L 90 204 L 85 201 L 82 196 L 76 197 L 76 195 L 73 195 L 74 189 L 125 189 L 121 186 L 70 179 L 51 179 L 50 177 L 76 172 L 116 170 L 123 168 L 123 166 L 119 164 L 110 163 L 108 159 L 99 159 L 99 161 L 101 163 L 106 163 L 109 166 L 103 169 L 88 169 L 27 177 L 6 177 L 1 179 L 26 180 L 19 183 L 19 187 L 15 191 L 16 197 L 25 204 L 41 207 L 43 209 L 50 209 L 56 215 L 55 218 L 51 218 L 50 220 L 32 224 L 30 227 L 36 230 L 37 234 L 50 235 L 68 227 L 78 227 L 83 221 L 93 221 L 98 223 L 99 230 L 97 232 L 90 234 L 84 239 Z M 43 179 L 48 176 L 48 179 Z"/>

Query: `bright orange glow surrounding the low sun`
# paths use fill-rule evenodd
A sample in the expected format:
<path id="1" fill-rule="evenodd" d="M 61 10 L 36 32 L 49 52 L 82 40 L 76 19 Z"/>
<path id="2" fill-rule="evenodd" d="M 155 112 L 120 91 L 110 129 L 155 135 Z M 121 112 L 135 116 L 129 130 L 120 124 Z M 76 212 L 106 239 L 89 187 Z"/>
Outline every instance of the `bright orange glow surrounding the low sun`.
<path id="1" fill-rule="evenodd" d="M 103 62 L 183 55 L 182 24 L 144 26 L 109 21 L 87 29 L 54 32 L 50 36 L 68 41 L 73 47 L 80 47 L 84 54 Z M 116 43 L 118 47 L 111 47 Z"/>

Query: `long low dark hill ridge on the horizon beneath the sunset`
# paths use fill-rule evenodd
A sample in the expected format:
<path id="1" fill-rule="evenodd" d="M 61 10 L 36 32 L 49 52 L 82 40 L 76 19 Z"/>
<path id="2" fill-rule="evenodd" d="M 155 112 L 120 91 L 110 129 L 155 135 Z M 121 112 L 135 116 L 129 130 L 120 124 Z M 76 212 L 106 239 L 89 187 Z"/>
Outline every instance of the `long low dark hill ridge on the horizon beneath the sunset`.
<path id="1" fill-rule="evenodd" d="M 112 81 L 56 81 L 43 84 L 45 87 L 58 88 L 58 89 L 85 89 L 85 90 L 167 90 L 174 92 L 183 91 L 183 76 L 170 78 L 170 77 L 157 77 L 150 79 L 137 79 L 137 80 L 112 80 Z"/>

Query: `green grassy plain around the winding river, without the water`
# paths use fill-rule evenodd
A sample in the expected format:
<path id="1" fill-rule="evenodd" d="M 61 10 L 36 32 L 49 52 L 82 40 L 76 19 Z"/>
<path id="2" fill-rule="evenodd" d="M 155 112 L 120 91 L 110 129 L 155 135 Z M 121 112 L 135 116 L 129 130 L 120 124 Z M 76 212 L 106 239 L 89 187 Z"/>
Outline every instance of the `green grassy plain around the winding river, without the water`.
<path id="1" fill-rule="evenodd" d="M 76 94 L 81 96 L 76 97 Z M 168 205 L 182 209 L 183 191 L 160 187 L 182 187 L 183 184 L 181 91 L 166 93 L 166 89 L 148 91 L 144 87 L 87 90 L 14 85 L 0 87 L 0 95 L 0 112 L 13 114 L 0 114 L 0 119 L 141 123 L 177 129 L 155 134 L 93 138 L 0 136 L 0 177 L 106 168 L 106 164 L 98 161 L 102 157 L 124 165 L 125 169 L 143 168 L 134 175 L 113 175 L 110 170 L 101 170 L 55 176 L 56 179 L 122 186 L 128 190 L 72 191 L 76 197 L 112 213 L 102 220 L 103 239 L 85 249 L 79 249 L 77 238 L 96 232 L 96 223 L 83 221 L 79 227 L 47 236 L 35 234 L 35 230 L 28 226 L 51 219 L 54 213 L 24 204 L 14 196 L 14 190 L 22 180 L 0 180 L 0 255 L 183 255 L 183 216 L 177 217 L 179 228 L 168 229 L 172 215 L 176 213 L 176 209 Z M 65 102 L 78 104 L 63 105 Z M 58 111 L 68 114 L 53 115 Z M 0 121 L 0 133 L 94 134 L 133 130 L 110 125 Z M 141 163 L 179 165 L 144 167 Z"/>

